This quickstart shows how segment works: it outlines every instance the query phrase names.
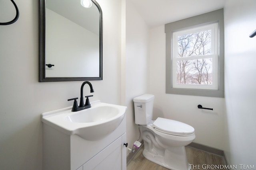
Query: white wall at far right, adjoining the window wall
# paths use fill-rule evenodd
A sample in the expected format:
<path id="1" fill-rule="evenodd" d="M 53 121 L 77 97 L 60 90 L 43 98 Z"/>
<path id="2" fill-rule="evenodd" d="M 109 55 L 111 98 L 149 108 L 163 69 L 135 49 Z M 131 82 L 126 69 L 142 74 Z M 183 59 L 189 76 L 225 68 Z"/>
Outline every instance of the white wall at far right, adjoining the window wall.
<path id="1" fill-rule="evenodd" d="M 225 25 L 226 155 L 230 164 L 254 165 L 256 153 L 255 0 L 227 0 Z M 239 166 L 240 168 L 240 166 Z"/>

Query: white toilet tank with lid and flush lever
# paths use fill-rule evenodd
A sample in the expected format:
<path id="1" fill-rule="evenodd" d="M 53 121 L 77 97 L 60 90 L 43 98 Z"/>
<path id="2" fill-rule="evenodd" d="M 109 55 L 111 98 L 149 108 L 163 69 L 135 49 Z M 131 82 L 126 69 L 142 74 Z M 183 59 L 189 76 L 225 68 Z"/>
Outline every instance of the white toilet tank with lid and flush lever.
<path id="1" fill-rule="evenodd" d="M 133 99 L 137 125 L 147 125 L 152 120 L 154 97 L 153 94 L 143 94 Z"/>

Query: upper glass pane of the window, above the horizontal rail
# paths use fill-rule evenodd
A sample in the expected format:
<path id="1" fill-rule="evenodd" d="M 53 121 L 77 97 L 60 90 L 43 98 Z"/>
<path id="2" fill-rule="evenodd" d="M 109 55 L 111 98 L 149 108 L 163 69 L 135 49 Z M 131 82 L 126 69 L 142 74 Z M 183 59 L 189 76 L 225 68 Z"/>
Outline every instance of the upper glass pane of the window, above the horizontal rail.
<path id="1" fill-rule="evenodd" d="M 178 57 L 211 54 L 211 30 L 178 36 Z"/>

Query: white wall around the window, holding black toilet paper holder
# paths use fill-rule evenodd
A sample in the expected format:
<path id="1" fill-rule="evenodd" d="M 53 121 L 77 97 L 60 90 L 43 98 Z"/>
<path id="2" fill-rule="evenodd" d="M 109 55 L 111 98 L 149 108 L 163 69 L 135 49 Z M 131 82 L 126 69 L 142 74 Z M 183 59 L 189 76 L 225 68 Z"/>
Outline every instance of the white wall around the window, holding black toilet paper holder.
<path id="1" fill-rule="evenodd" d="M 166 56 L 164 25 L 150 29 L 150 89 L 155 95 L 154 119 L 164 117 L 191 125 L 195 129 L 194 142 L 224 149 L 224 98 L 174 95 L 165 93 Z M 213 111 L 198 109 L 213 108 Z"/>

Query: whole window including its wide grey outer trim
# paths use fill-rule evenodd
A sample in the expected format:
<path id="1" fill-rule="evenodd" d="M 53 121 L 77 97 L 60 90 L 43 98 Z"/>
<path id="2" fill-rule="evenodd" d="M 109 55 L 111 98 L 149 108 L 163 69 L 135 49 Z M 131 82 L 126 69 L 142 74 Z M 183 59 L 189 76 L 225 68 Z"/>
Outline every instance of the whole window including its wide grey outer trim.
<path id="1" fill-rule="evenodd" d="M 224 97 L 223 9 L 168 23 L 166 93 Z"/>

